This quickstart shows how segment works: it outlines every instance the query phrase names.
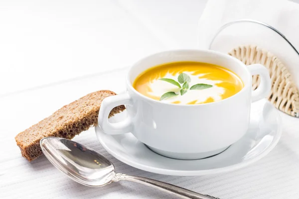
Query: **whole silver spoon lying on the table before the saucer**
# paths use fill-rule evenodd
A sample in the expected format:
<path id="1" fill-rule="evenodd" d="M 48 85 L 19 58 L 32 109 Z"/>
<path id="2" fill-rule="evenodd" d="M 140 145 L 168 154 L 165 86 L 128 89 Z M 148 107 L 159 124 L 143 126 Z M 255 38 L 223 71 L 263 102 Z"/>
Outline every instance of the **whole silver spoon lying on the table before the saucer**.
<path id="1" fill-rule="evenodd" d="M 45 137 L 40 140 L 40 146 L 57 169 L 85 186 L 102 187 L 112 182 L 128 180 L 174 194 L 182 199 L 217 199 L 149 178 L 115 173 L 113 164 L 102 154 L 68 139 Z"/>

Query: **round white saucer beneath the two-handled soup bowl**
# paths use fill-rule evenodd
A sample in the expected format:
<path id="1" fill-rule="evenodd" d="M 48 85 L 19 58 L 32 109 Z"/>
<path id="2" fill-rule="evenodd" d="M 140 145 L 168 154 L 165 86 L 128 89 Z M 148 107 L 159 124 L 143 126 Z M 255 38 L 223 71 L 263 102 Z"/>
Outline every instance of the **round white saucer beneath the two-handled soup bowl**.
<path id="1" fill-rule="evenodd" d="M 265 105 L 264 105 L 265 104 Z M 262 108 L 261 108 L 262 107 Z M 267 155 L 281 137 L 281 118 L 269 102 L 252 105 L 248 132 L 224 152 L 200 160 L 176 160 L 152 152 L 133 134 L 108 135 L 95 127 L 102 146 L 118 160 L 145 171 L 173 176 L 202 176 L 233 171 L 254 163 Z M 118 122 L 126 112 L 117 114 L 110 122 Z M 227 132 L 229 133 L 229 132 Z"/>

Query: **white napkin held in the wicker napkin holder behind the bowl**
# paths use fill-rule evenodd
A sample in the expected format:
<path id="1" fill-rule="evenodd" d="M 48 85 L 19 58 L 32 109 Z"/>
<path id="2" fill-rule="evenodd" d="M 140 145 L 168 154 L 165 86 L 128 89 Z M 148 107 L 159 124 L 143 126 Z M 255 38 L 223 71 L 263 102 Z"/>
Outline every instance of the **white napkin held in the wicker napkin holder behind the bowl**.
<path id="1" fill-rule="evenodd" d="M 288 38 L 299 51 L 299 3 L 290 0 L 209 0 L 198 25 L 198 47 L 209 44 L 224 24 L 254 19 L 267 23 Z M 299 55 L 276 32 L 259 24 L 233 24 L 220 32 L 211 49 L 228 53 L 239 45 L 268 49 L 288 68 L 299 88 Z"/>

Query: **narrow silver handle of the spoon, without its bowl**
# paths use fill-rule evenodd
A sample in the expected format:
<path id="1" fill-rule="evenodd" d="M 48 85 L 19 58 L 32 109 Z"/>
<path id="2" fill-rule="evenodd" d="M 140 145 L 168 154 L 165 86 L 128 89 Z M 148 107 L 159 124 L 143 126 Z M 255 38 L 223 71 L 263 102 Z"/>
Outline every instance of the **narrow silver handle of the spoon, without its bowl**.
<path id="1" fill-rule="evenodd" d="M 116 174 L 115 178 L 113 179 L 114 182 L 118 182 L 120 180 L 128 180 L 136 183 L 140 183 L 152 188 L 159 189 L 161 191 L 165 191 L 171 194 L 176 195 L 181 199 L 219 199 L 208 195 L 198 194 L 196 192 L 192 192 L 190 190 L 177 187 L 175 185 L 171 185 L 168 183 L 163 183 L 161 181 L 152 180 L 149 178 L 138 177 L 138 176 L 128 176 L 125 174 Z"/>

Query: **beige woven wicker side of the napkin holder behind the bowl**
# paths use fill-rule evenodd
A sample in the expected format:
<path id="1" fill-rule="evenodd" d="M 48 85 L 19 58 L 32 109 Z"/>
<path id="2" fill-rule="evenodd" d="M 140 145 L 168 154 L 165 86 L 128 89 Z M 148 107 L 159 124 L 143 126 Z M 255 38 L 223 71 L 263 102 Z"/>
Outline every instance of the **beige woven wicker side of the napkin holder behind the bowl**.
<path id="1" fill-rule="evenodd" d="M 271 94 L 268 100 L 279 110 L 299 116 L 299 92 L 291 74 L 284 64 L 270 52 L 257 46 L 239 46 L 229 54 L 246 65 L 263 64 L 267 67 L 272 81 Z M 253 76 L 252 87 L 255 90 L 260 84 L 260 77 Z"/>

